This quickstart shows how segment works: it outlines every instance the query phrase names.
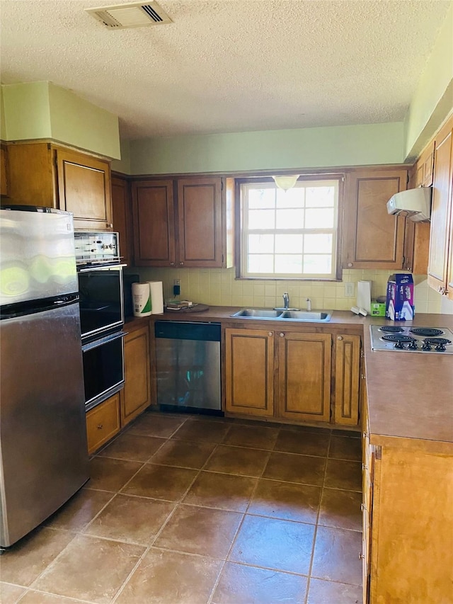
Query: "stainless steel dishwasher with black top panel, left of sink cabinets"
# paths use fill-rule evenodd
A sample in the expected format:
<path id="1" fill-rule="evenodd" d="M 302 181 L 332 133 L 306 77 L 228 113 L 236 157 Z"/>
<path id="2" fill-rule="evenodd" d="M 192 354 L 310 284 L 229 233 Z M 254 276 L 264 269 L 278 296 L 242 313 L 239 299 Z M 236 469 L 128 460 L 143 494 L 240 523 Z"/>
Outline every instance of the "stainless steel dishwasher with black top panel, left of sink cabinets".
<path id="1" fill-rule="evenodd" d="M 161 410 L 223 415 L 220 324 L 156 321 L 154 334 Z"/>

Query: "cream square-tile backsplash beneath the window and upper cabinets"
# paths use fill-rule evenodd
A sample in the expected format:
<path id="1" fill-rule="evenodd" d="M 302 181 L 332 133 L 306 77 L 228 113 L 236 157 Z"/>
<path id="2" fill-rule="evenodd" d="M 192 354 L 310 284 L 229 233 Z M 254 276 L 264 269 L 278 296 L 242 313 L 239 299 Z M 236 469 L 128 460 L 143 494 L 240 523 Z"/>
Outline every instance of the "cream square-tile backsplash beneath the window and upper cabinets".
<path id="1" fill-rule="evenodd" d="M 210 306 L 280 307 L 283 292 L 289 293 L 292 307 L 305 308 L 310 298 L 314 309 L 349 310 L 355 305 L 357 281 L 372 282 L 372 298 L 386 293 L 386 283 L 392 270 L 343 270 L 343 281 L 236 280 L 234 268 L 144 268 L 132 267 L 127 273 L 137 273 L 142 281 L 162 281 L 164 298 L 173 298 L 173 281 L 180 280 L 180 299 L 202 302 Z M 354 295 L 345 296 L 345 283 L 352 283 Z M 442 300 L 428 287 L 424 275 L 414 275 L 415 312 L 453 314 L 453 302 Z M 442 304 L 442 308 L 441 308 Z"/>

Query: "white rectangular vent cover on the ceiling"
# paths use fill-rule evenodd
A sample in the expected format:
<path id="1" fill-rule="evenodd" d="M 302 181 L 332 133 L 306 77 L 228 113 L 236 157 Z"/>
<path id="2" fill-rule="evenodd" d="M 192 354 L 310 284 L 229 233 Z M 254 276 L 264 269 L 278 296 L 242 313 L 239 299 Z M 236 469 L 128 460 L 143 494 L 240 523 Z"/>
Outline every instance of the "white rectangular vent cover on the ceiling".
<path id="1" fill-rule="evenodd" d="M 134 4 L 116 4 L 85 8 L 86 12 L 110 29 L 126 29 L 172 23 L 171 18 L 157 2 L 135 2 Z"/>

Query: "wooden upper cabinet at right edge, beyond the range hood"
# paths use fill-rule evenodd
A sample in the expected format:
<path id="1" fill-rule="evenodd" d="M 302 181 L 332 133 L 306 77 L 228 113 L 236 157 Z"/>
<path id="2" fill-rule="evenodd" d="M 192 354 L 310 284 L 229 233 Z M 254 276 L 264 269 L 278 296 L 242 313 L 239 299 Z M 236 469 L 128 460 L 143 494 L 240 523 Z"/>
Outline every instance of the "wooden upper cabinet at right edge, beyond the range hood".
<path id="1" fill-rule="evenodd" d="M 428 283 L 453 300 L 453 118 L 435 137 Z"/>

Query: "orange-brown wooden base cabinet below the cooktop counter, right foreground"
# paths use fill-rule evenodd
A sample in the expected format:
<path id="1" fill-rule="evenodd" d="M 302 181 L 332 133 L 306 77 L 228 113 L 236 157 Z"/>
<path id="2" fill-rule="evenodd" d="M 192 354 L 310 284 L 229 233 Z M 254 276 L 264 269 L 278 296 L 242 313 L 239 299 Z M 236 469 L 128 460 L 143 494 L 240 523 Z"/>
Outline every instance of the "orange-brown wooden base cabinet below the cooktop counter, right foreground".
<path id="1" fill-rule="evenodd" d="M 362 425 L 364 604 L 452 601 L 453 457 L 449 443 Z"/>

